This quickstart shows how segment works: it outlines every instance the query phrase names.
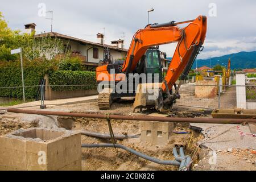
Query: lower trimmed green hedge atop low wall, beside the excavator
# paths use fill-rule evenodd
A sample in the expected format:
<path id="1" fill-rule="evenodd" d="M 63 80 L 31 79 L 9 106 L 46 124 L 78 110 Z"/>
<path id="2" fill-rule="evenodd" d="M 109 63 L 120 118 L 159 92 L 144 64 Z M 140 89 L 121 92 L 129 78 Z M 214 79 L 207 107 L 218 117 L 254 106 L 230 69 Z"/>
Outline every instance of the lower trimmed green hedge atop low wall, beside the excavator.
<path id="1" fill-rule="evenodd" d="M 49 84 L 53 91 L 91 90 L 97 88 L 96 72 L 90 71 L 55 71 L 49 75 Z M 89 86 L 54 86 L 54 85 L 89 85 Z"/>

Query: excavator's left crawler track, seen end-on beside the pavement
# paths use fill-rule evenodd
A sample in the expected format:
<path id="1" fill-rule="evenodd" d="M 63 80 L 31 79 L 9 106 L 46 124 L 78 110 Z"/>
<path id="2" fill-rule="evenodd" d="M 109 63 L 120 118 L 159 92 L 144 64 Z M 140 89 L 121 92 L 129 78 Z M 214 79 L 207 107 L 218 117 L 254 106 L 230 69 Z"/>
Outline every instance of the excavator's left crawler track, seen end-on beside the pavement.
<path id="1" fill-rule="evenodd" d="M 111 94 L 111 89 L 103 89 L 99 94 L 98 94 L 98 108 L 100 110 L 108 110 L 110 109 L 110 106 L 113 102 L 113 97 Z"/>

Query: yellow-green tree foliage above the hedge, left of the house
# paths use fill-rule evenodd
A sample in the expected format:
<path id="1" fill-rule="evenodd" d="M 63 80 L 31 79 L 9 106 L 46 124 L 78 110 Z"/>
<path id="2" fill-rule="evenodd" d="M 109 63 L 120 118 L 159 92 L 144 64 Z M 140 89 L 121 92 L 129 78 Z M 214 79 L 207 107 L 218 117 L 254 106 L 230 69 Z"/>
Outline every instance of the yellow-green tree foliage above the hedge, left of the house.
<path id="1" fill-rule="evenodd" d="M 35 60 L 43 58 L 52 60 L 56 55 L 64 52 L 60 61 L 69 57 L 70 50 L 64 50 L 63 43 L 59 38 L 42 36 L 34 38 L 35 32 L 31 34 L 21 33 L 20 30 L 11 30 L 7 26 L 0 12 L 0 61 L 10 61 L 19 59 L 19 55 L 11 55 L 11 49 L 22 48 L 24 59 Z"/>

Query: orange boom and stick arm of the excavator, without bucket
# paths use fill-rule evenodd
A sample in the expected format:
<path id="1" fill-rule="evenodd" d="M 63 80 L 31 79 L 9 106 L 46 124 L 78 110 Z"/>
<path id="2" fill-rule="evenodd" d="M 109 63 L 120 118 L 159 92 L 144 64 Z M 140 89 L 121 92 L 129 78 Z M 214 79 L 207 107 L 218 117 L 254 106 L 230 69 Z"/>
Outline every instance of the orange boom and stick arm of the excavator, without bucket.
<path id="1" fill-rule="evenodd" d="M 177 27 L 178 24 L 183 23 L 189 24 L 184 28 Z M 174 56 L 162 85 L 164 92 L 167 91 L 167 86 L 169 91 L 181 73 L 183 73 L 181 76 L 187 76 L 201 45 L 204 43 L 206 31 L 207 17 L 202 15 L 194 20 L 153 24 L 138 30 L 133 36 L 122 72 L 130 73 L 133 71 L 148 48 L 177 42 Z"/>

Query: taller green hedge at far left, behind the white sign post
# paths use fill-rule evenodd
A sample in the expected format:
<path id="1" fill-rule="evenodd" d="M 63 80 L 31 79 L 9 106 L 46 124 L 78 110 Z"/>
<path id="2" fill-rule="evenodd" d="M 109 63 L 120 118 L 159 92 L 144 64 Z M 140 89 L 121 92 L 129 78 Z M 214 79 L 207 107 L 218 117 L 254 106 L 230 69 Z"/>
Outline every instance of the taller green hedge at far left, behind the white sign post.
<path id="1" fill-rule="evenodd" d="M 40 79 L 53 71 L 53 61 L 23 61 L 24 85 L 26 98 L 36 98 L 39 87 L 26 86 L 39 85 Z M 22 86 L 22 73 L 20 61 L 0 62 L 0 97 L 22 98 L 22 88 L 2 88 Z"/>

